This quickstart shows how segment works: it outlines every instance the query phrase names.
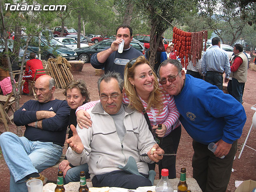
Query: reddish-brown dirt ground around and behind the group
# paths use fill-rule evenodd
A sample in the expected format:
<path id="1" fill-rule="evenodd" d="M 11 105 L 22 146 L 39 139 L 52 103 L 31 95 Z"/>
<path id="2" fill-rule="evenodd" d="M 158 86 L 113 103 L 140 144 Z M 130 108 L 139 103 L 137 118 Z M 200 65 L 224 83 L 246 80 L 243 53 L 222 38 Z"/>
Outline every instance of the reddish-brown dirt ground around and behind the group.
<path id="1" fill-rule="evenodd" d="M 90 91 L 91 100 L 97 100 L 98 91 L 96 82 L 99 76 L 95 76 L 95 69 L 90 65 L 90 63 L 84 64 L 84 68 L 82 72 L 72 72 L 74 79 L 82 79 L 86 82 L 88 90 Z M 231 174 L 230 182 L 228 184 L 227 192 L 234 192 L 236 190 L 234 186 L 235 180 L 255 180 L 256 181 L 256 151 L 252 150 L 248 147 L 244 148 L 242 156 L 238 159 L 238 155 L 240 150 L 242 149 L 242 144 L 248 134 L 250 126 L 252 124 L 252 116 L 254 114 L 254 110 L 251 110 L 250 107 L 256 104 L 256 71 L 248 70 L 248 78 L 245 84 L 244 90 L 244 108 L 246 111 L 246 124 L 243 129 L 243 133 L 241 138 L 238 140 L 238 151 L 236 153 L 236 158 L 233 163 L 234 172 Z M 62 94 L 63 89 L 56 89 L 55 97 L 58 99 L 65 99 Z M 24 96 L 20 99 L 20 106 L 24 102 L 29 99 L 33 99 L 32 96 Z M 3 124 L 0 123 L 0 130 L 4 131 Z M 10 131 L 16 133 L 16 126 L 10 125 Z M 23 130 L 24 131 L 24 130 Z M 256 149 L 256 130 L 253 128 L 246 143 L 248 146 Z M 66 150 L 66 146 L 65 146 Z M 64 150 L 64 151 L 65 151 Z M 187 177 L 192 177 L 192 138 L 186 133 L 184 128 L 182 127 L 182 136 L 180 138 L 180 144 L 177 152 L 177 160 L 176 160 L 176 177 L 179 178 L 180 168 L 185 167 L 187 170 Z M 48 168 L 42 172 L 48 180 L 56 181 L 57 179 L 57 168 Z M 157 170 L 158 172 L 158 170 Z M 158 175 L 158 174 L 157 174 Z M 9 192 L 9 181 L 10 181 L 10 173 L 8 167 L 4 161 L 2 156 L 2 152 L 0 153 L 0 192 Z"/>

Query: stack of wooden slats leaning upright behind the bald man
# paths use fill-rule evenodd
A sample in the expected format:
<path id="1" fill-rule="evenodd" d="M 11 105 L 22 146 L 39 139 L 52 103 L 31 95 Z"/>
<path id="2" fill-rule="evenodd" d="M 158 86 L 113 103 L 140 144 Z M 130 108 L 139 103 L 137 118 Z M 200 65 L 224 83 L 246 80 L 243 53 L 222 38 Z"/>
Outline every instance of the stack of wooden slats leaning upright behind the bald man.
<path id="1" fill-rule="evenodd" d="M 46 61 L 44 61 L 46 62 Z M 48 59 L 48 61 L 43 63 L 47 68 L 50 68 L 50 76 L 54 78 L 56 88 L 66 88 L 67 84 L 74 80 L 69 68 L 71 65 L 66 60 L 66 58 L 58 57 Z"/>

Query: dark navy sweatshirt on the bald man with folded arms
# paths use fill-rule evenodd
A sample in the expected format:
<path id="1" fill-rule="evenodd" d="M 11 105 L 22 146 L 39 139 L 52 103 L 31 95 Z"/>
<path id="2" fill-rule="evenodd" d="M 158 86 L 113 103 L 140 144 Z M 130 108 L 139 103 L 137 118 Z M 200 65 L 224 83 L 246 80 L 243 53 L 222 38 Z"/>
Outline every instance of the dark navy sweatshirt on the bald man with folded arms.
<path id="1" fill-rule="evenodd" d="M 22 109 L 26 109 L 22 111 Z M 42 120 L 42 128 L 28 126 L 35 122 L 37 111 L 53 111 L 56 115 L 52 118 Z M 29 100 L 14 112 L 14 123 L 17 126 L 26 126 L 24 136 L 30 141 L 53 142 L 63 146 L 66 139 L 70 107 L 66 100 L 52 100 L 47 103 L 40 103 L 36 100 Z"/>

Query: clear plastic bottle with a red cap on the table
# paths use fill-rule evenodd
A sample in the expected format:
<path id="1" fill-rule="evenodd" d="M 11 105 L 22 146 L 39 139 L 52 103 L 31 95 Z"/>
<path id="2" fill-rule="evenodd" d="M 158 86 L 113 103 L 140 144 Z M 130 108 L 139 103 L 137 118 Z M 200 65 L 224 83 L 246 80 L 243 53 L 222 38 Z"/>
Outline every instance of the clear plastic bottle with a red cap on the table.
<path id="1" fill-rule="evenodd" d="M 168 178 L 169 170 L 162 169 L 161 175 L 162 177 L 156 185 L 156 192 L 173 192 L 172 184 Z"/>

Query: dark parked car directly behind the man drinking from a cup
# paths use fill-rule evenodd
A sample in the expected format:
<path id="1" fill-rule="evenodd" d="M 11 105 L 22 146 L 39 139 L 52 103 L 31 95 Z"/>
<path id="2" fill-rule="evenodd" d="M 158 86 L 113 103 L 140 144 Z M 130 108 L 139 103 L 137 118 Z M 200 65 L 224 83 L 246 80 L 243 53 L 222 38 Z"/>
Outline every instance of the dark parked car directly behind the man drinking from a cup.
<path id="1" fill-rule="evenodd" d="M 112 44 L 113 41 L 114 41 L 114 39 L 103 40 L 103 41 L 100 41 L 100 42 L 90 46 L 90 47 L 79 48 L 79 49 L 76 49 L 75 51 L 78 55 L 79 60 L 82 60 L 82 61 L 88 63 L 94 53 L 101 52 L 101 51 L 105 50 L 106 48 L 110 47 L 110 45 Z M 145 54 L 145 47 L 143 46 L 143 44 L 141 42 L 139 42 L 137 40 L 132 40 L 130 45 L 133 48 L 135 48 L 138 51 Z"/>

